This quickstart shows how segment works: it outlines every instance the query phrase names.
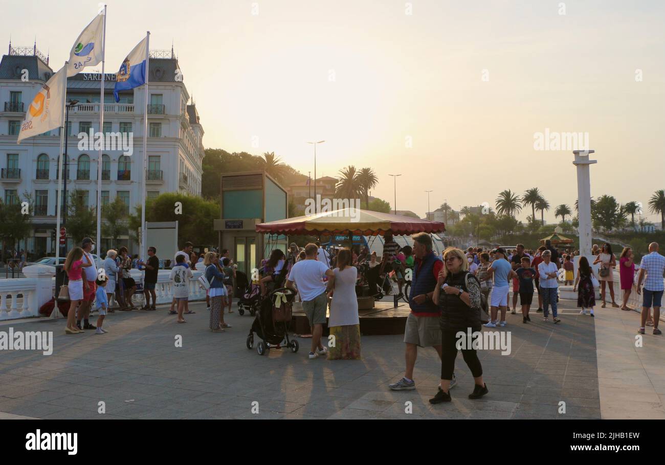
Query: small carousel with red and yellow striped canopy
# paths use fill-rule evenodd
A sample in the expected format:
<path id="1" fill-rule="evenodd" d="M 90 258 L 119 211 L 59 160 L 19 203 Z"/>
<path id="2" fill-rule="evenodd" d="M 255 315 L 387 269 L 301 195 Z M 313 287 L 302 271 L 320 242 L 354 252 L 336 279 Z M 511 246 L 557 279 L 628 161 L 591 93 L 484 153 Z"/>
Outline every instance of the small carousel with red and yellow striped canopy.
<path id="1" fill-rule="evenodd" d="M 269 234 L 267 243 L 271 238 L 279 236 L 321 236 L 344 234 L 352 243 L 354 234 L 370 236 L 374 240 L 377 236 L 392 233 L 394 236 L 410 235 L 416 233 L 436 234 L 446 231 L 444 223 L 424 219 L 391 215 L 362 209 L 346 208 L 326 211 L 315 215 L 281 219 L 270 223 L 256 225 L 257 233 Z M 369 248 L 369 247 L 368 247 Z M 375 300 L 368 286 L 363 283 L 362 269 L 358 272 L 359 284 L 356 286 L 358 298 L 358 314 L 360 316 L 360 330 L 363 334 L 400 334 L 404 332 L 406 317 L 410 308 L 406 303 L 382 302 Z M 309 324 L 302 308 L 296 302 L 293 306 L 293 326 L 296 332 L 309 333 Z"/>

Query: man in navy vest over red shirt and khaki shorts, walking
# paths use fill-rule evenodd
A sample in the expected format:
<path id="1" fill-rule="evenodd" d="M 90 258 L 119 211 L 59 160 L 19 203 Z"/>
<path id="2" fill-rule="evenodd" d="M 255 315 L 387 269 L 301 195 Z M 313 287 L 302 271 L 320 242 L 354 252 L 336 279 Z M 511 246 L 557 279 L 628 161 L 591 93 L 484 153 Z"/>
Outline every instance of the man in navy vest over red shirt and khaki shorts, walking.
<path id="1" fill-rule="evenodd" d="M 444 267 L 441 258 L 432 250 L 432 237 L 427 233 L 418 233 L 412 236 L 414 240 L 413 254 L 415 258 L 414 270 L 409 294 L 411 313 L 406 319 L 404 328 L 404 343 L 406 344 L 406 371 L 404 377 L 388 387 L 393 391 L 416 389 L 413 379 L 418 346 L 434 347 L 441 358 L 441 327 L 439 317 L 441 310 L 432 302 L 432 294 L 436 288 L 439 272 Z M 455 375 L 450 383 L 456 383 Z"/>

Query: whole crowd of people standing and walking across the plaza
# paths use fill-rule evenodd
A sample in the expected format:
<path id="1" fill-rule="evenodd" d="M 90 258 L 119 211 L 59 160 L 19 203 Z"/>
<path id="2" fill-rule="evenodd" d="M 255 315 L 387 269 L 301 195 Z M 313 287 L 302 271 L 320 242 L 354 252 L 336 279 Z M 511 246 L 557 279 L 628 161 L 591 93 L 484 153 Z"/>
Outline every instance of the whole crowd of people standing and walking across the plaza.
<path id="1" fill-rule="evenodd" d="M 433 250 L 429 234 L 412 236 L 413 246 L 400 247 L 390 233 L 384 236 L 381 260 L 376 252 L 339 248 L 325 250 L 321 243 L 311 243 L 301 250 L 292 243 L 285 254 L 280 249 L 271 252 L 263 260 L 259 286 L 261 295 L 266 296 L 277 288 L 291 288 L 297 291 L 303 310 L 311 327 L 310 359 L 327 356 L 328 359 L 360 359 L 360 321 L 356 288 L 359 283 L 368 285 L 369 294 L 380 293 L 380 277 L 394 272 L 402 284 L 410 268 L 410 293 L 408 302 L 410 314 L 404 329 L 406 369 L 402 379 L 390 384 L 390 389 L 415 389 L 414 366 L 418 347 L 434 347 L 441 359 L 440 385 L 431 403 L 451 400 L 450 389 L 456 384 L 454 362 L 458 347 L 463 347 L 462 356 L 471 370 L 475 387 L 469 399 L 479 399 L 489 390 L 483 381 L 482 366 L 471 341 L 458 344 L 458 333 L 480 331 L 484 304 L 489 315 L 485 327 L 505 327 L 506 314 L 517 314 L 517 300 L 521 306 L 523 324 L 531 322 L 530 311 L 533 294 L 538 294 L 537 313 L 543 314 L 543 322 L 549 322 L 551 309 L 552 322 L 559 324 L 558 314 L 559 283 L 572 285 L 577 292 L 577 306 L 580 314 L 594 316 L 597 291 L 600 291 L 602 308 L 606 307 L 606 288 L 609 290 L 612 307 L 632 310 L 628 307 L 630 293 L 635 290 L 643 294 L 641 326 L 638 332 L 644 334 L 645 326 L 653 326 L 654 335 L 658 329 L 660 305 L 662 301 L 663 278 L 665 277 L 665 257 L 658 253 L 658 244 L 649 245 L 649 254 L 642 258 L 635 278 L 636 264 L 629 247 L 622 250 L 619 259 L 620 288 L 624 292 L 622 306 L 616 304 L 614 296 L 614 268 L 616 256 L 610 244 L 594 246 L 593 262 L 580 256 L 575 274 L 573 258 L 579 251 L 561 252 L 551 242 L 546 241 L 536 250 L 527 250 L 523 244 L 506 250 L 496 246 L 491 250 L 469 247 L 466 251 L 449 247 L 439 256 Z M 127 249 L 108 250 L 104 260 L 104 273 L 98 274 L 92 255 L 94 242 L 85 238 L 80 247 L 70 250 L 65 262 L 69 278 L 71 308 L 68 313 L 66 333 L 79 333 L 84 329 L 95 329 L 105 333 L 103 327 L 108 302 L 112 294 L 120 303 L 120 310 L 132 310 L 132 296 L 136 282 L 130 276 L 132 259 Z M 148 248 L 146 262 L 136 260 L 134 266 L 144 269 L 144 310 L 155 310 L 156 297 L 154 284 L 160 262 L 156 248 Z M 228 256 L 228 250 L 220 253 L 207 252 L 197 256 L 192 252 L 192 244 L 186 242 L 184 248 L 174 256 L 170 279 L 174 299 L 170 313 L 177 314 L 177 322 L 185 323 L 184 315 L 194 312 L 188 307 L 190 281 L 194 278 L 192 269 L 203 270 L 203 280 L 207 282 L 207 304 L 210 311 L 211 331 L 222 332 L 231 327 L 224 321 L 225 307 L 231 310 L 233 279 L 235 268 Z M 598 276 L 592 265 L 598 265 Z M 361 272 L 364 276 L 361 276 Z M 635 282 L 636 281 L 636 282 Z M 642 282 L 644 286 L 642 287 Z M 509 291 L 513 290 L 512 302 Z M 362 287 L 362 286 L 361 286 Z M 152 298 L 152 305 L 150 299 Z M 97 326 L 88 321 L 90 306 L 96 302 L 99 310 Z M 510 306 L 512 303 L 512 306 Z M 512 307 L 512 308 L 511 308 Z M 654 314 L 651 316 L 650 309 Z M 327 318 L 327 310 L 330 310 Z M 75 323 L 74 323 L 75 322 Z M 326 347 L 322 343 L 323 325 L 327 324 L 335 343 Z M 82 326 L 81 326 L 82 325 Z"/>

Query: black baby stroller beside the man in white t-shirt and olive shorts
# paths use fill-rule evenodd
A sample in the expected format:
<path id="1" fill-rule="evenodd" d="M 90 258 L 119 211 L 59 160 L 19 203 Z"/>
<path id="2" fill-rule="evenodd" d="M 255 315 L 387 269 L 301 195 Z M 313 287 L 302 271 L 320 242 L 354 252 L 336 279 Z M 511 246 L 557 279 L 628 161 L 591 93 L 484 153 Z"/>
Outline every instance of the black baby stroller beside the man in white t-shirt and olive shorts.
<path id="1" fill-rule="evenodd" d="M 298 341 L 289 341 L 288 331 L 291 322 L 291 305 L 295 299 L 295 294 L 295 290 L 279 288 L 270 292 L 261 300 L 261 307 L 247 335 L 247 349 L 253 349 L 254 333 L 257 333 L 263 339 L 257 345 L 259 355 L 263 355 L 273 348 L 271 346 L 282 343 L 291 349 L 291 352 L 296 353 L 298 351 Z M 277 299 L 281 296 L 284 296 L 281 302 L 277 302 Z"/>

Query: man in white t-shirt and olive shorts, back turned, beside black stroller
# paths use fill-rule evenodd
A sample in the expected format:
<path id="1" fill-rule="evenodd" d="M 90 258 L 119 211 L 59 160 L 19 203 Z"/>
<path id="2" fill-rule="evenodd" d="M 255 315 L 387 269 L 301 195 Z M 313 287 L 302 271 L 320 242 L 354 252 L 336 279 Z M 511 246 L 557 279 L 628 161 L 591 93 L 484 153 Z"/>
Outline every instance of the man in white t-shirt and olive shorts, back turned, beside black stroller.
<path id="1" fill-rule="evenodd" d="M 318 251 L 317 244 L 305 246 L 305 260 L 293 265 L 286 284 L 289 289 L 293 289 L 295 284 L 303 301 L 303 310 L 305 310 L 312 331 L 312 349 L 309 352 L 311 359 L 328 352 L 328 349 L 321 344 L 323 324 L 326 322 L 328 310 L 327 289 L 323 277 L 328 277 L 328 289 L 332 289 L 334 286 L 334 272 L 327 264 L 317 260 Z"/>

